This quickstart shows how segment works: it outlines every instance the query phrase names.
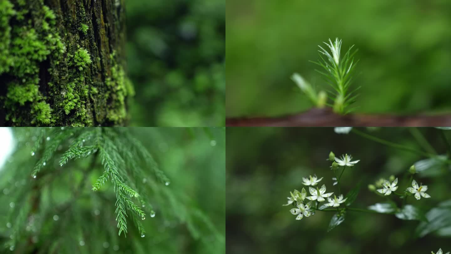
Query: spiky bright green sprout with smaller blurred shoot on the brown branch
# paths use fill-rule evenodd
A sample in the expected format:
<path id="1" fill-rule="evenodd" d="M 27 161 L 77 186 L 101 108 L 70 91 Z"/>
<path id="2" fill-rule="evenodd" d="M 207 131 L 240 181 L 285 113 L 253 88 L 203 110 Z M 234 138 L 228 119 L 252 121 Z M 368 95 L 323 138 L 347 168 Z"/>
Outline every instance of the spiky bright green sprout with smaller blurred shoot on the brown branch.
<path id="1" fill-rule="evenodd" d="M 329 43 L 324 42 L 324 44 L 329 47 L 330 52 L 318 45 L 321 49 L 319 50 L 321 61 L 312 61 L 318 66 L 321 66 L 324 71 L 315 71 L 321 74 L 327 84 L 333 89 L 333 91 L 327 91 L 330 94 L 330 98 L 334 100 L 333 105 L 328 105 L 331 106 L 336 113 L 350 113 L 354 108 L 349 107 L 355 102 L 355 99 L 358 96 L 356 91 L 359 89 L 359 87 L 350 89 L 354 68 L 358 62 L 354 62 L 354 54 L 357 50 L 351 51 L 354 47 L 353 45 L 344 55 L 341 55 L 341 40 L 338 38 L 336 38 L 334 42 L 329 39 Z M 292 80 L 295 81 L 308 98 L 318 107 L 322 107 L 325 104 L 325 95 L 319 96 L 324 92 L 321 91 L 318 96 L 315 96 L 315 89 L 297 73 L 292 75 Z"/>

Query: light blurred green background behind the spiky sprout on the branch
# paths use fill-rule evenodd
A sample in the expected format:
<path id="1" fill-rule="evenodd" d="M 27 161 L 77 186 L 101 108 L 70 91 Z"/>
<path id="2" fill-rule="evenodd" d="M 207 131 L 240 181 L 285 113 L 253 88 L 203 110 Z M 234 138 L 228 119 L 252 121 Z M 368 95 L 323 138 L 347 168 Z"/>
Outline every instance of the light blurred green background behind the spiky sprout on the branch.
<path id="1" fill-rule="evenodd" d="M 274 116 L 311 107 L 290 75 L 327 87 L 318 45 L 359 49 L 358 113 L 450 113 L 451 1 L 229 0 L 226 115 Z M 324 45 L 323 45 L 324 46 Z"/>

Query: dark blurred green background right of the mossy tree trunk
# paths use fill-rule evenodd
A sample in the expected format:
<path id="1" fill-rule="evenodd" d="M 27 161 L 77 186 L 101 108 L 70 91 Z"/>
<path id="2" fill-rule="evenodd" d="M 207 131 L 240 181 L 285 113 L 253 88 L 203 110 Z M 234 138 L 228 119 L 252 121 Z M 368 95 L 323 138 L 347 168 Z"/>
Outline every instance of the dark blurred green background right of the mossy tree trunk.
<path id="1" fill-rule="evenodd" d="M 223 126 L 224 0 L 128 0 L 132 126 Z"/>

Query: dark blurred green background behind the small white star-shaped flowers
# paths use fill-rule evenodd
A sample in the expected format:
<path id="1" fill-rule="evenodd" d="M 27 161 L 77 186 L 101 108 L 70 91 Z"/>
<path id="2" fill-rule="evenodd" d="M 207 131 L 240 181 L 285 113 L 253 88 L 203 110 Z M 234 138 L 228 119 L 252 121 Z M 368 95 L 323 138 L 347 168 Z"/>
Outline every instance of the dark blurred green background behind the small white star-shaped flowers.
<path id="1" fill-rule="evenodd" d="M 358 130 L 417 150 L 427 146 L 420 137 L 423 135 L 437 154 L 446 154 L 447 146 L 441 131 L 435 128 L 419 128 L 421 135 L 409 128 Z M 451 140 L 451 132 L 445 135 Z M 408 184 L 402 174 L 415 162 L 426 159 L 424 156 L 383 146 L 353 132 L 336 134 L 333 128 L 326 127 L 227 128 L 226 140 L 228 253 L 420 254 L 436 252 L 439 248 L 444 253 L 451 250 L 449 228 L 447 233 L 432 233 L 416 239 L 413 236 L 419 221 L 349 211 L 345 221 L 327 233 L 333 212 L 317 212 L 296 221 L 296 216 L 290 213 L 293 207 L 282 206 L 290 191 L 305 187 L 302 177 L 309 174 L 324 177 L 318 186 L 326 184 L 327 193 L 338 192 L 337 186 L 332 186 L 331 163 L 326 160 L 330 151 L 336 156 L 348 153 L 354 160 L 360 160 L 352 169 L 347 168 L 341 179 L 343 193 L 359 180 L 363 181 L 360 193 L 351 205 L 358 208 L 386 201 L 367 188 L 380 178 L 396 175 L 400 186 L 398 192 L 402 192 Z M 417 201 L 410 197 L 407 202 L 428 211 L 431 206 L 449 200 L 449 169 L 438 167 L 415 174 L 418 183 L 428 185 L 427 193 L 432 198 Z M 398 196 L 391 196 L 399 206 Z"/>

